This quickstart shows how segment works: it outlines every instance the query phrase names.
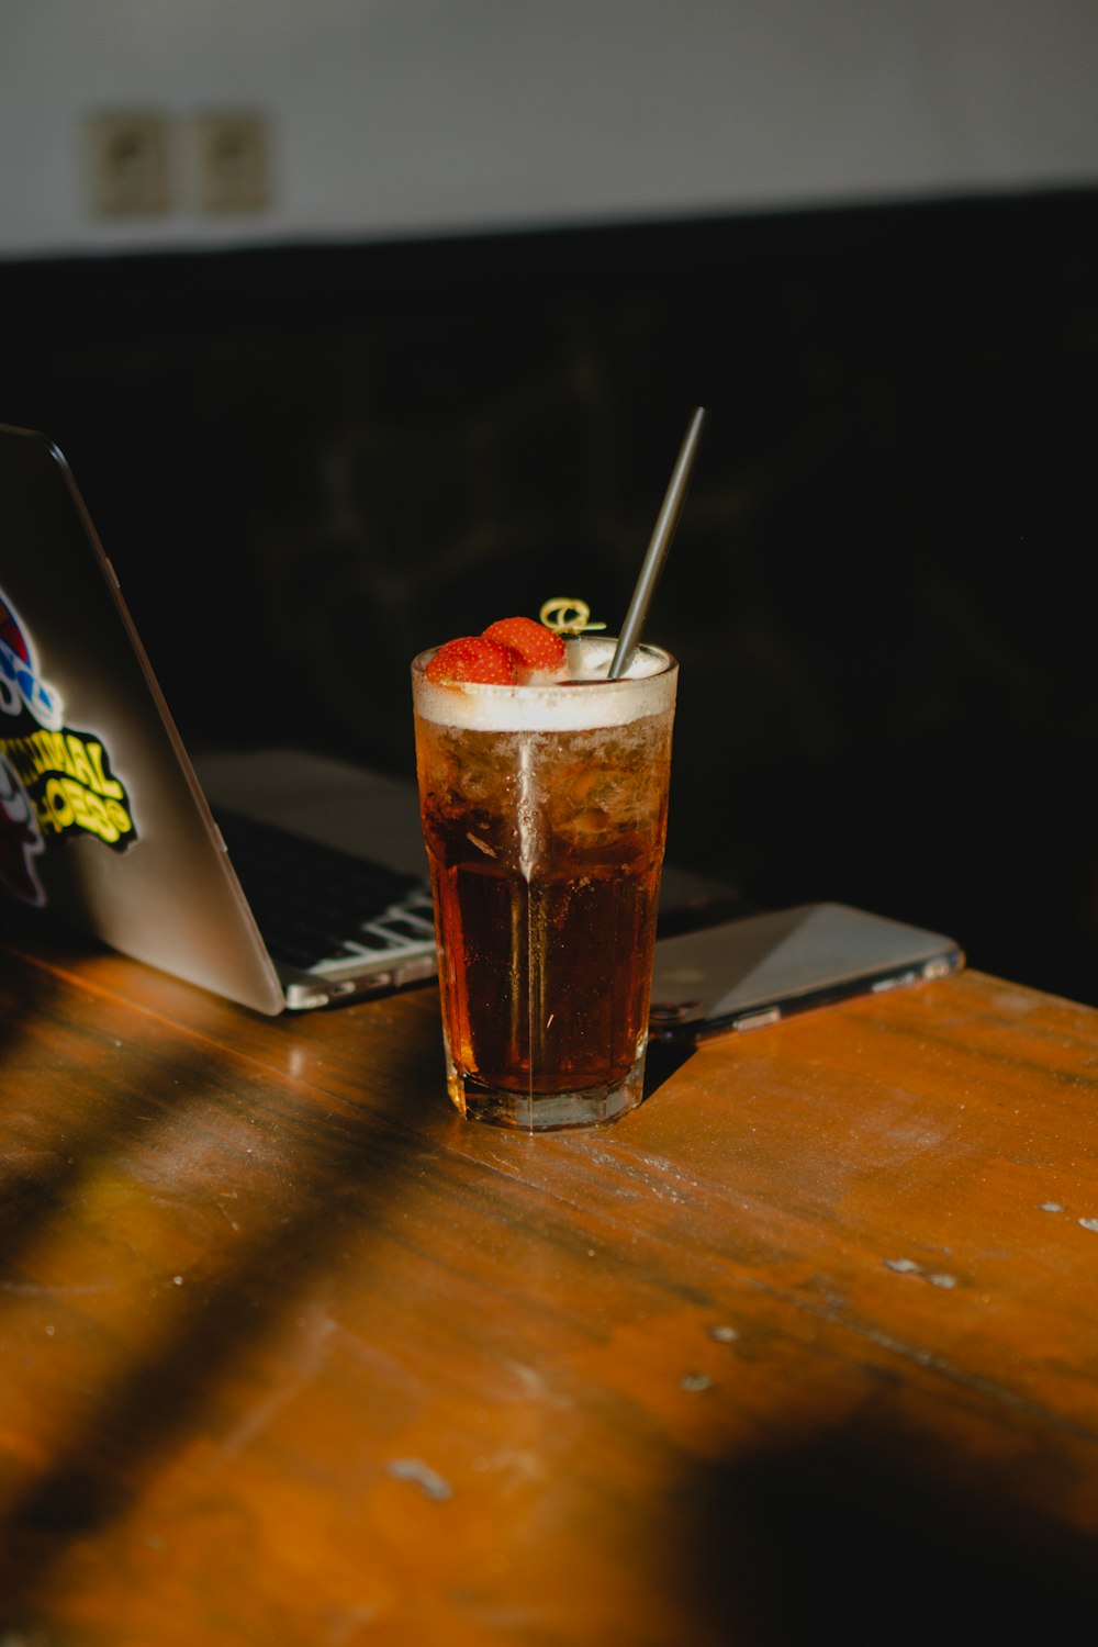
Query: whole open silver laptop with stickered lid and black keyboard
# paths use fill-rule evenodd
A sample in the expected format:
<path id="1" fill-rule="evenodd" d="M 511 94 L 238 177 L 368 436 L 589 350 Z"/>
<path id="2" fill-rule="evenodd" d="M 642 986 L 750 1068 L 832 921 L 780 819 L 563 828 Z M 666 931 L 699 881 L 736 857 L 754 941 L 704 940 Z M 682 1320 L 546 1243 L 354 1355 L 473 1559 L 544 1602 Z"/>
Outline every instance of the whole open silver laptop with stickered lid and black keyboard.
<path id="1" fill-rule="evenodd" d="M 413 787 L 296 749 L 196 763 L 64 456 L 8 425 L 0 893 L 272 1016 L 436 972 Z"/>

